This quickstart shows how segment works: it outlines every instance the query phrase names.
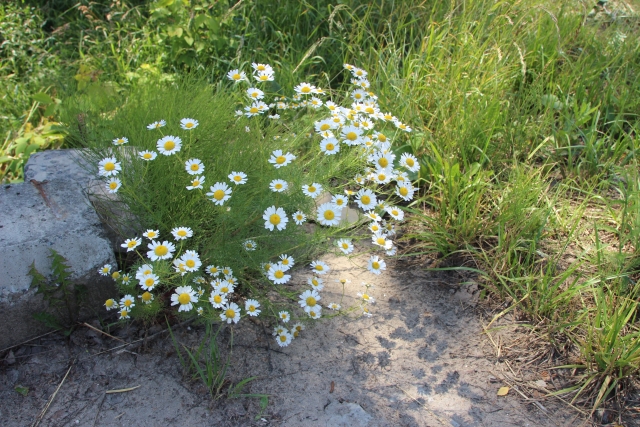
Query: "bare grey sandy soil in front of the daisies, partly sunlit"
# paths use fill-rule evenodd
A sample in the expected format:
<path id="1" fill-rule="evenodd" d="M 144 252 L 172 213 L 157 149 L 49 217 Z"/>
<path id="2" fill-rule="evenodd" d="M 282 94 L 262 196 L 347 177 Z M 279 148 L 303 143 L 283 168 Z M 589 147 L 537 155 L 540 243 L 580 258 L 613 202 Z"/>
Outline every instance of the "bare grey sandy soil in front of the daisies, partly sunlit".
<path id="1" fill-rule="evenodd" d="M 0 419 L 5 426 L 574 426 L 591 425 L 555 399 L 535 400 L 507 383 L 506 367 L 482 334 L 478 290 L 455 272 L 425 271 L 428 260 L 388 260 L 381 276 L 366 257 L 327 255 L 321 303 L 358 303 L 364 280 L 375 284 L 371 316 L 353 310 L 307 324 L 286 348 L 271 328 L 243 319 L 233 328 L 230 384 L 256 377 L 242 393 L 212 400 L 183 374 L 160 325 L 115 334 L 88 327 L 69 338 L 51 334 L 0 354 Z M 308 270 L 291 283 L 305 289 Z M 325 309 L 323 314 L 329 314 Z M 98 323 L 94 323 L 98 325 Z M 175 326 L 197 346 L 204 328 Z M 226 348 L 229 328 L 220 335 Z M 113 350 L 115 348 L 115 350 Z M 111 349 L 111 350 L 110 350 Z M 109 351 L 110 350 L 110 351 Z M 498 396 L 501 387 L 510 387 Z M 22 387 L 22 388 L 20 388 Z M 137 388 L 136 388 L 137 387 Z M 106 393 L 108 390 L 131 389 Z M 25 395 L 19 393 L 22 391 Z M 526 397 L 526 399 L 525 399 Z M 48 402 L 51 402 L 47 407 Z"/>

